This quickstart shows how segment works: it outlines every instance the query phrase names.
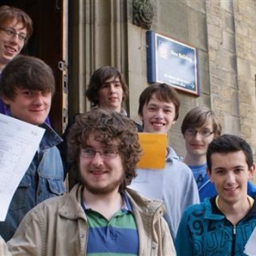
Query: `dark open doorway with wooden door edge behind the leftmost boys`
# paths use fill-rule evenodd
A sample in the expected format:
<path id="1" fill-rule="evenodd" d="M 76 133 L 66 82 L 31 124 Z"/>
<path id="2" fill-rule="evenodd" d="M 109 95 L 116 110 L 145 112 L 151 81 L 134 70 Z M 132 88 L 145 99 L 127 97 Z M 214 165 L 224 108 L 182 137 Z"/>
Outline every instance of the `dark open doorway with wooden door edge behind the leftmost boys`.
<path id="1" fill-rule="evenodd" d="M 24 10 L 33 20 L 33 34 L 22 53 L 43 59 L 56 79 L 49 119 L 61 135 L 68 123 L 68 1 L 1 0 L 0 5 Z"/>

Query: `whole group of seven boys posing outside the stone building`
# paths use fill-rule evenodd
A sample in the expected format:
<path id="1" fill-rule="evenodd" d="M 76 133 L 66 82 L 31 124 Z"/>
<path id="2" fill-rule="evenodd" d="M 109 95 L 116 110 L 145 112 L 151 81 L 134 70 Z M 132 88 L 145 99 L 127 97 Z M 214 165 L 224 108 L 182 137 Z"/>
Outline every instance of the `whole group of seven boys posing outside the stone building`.
<path id="1" fill-rule="evenodd" d="M 168 146 L 163 197 L 145 198 L 128 188 L 136 173 L 146 172 L 136 169 L 142 154 L 137 132 L 170 131 L 179 115 L 175 89 L 155 83 L 142 92 L 141 127 L 122 108 L 128 87 L 121 73 L 97 69 L 86 91 L 93 108 L 75 116 L 59 146 L 59 135 L 45 123 L 55 92 L 52 70 L 40 59 L 16 57 L 32 22 L 21 10 L 3 6 L 0 26 L 3 113 L 46 130 L 0 222 L 3 255 L 242 255 L 256 226 L 249 144 L 220 135 L 208 108 L 193 109 L 181 126 L 184 163 Z M 74 178 L 68 194 L 67 172 Z"/>

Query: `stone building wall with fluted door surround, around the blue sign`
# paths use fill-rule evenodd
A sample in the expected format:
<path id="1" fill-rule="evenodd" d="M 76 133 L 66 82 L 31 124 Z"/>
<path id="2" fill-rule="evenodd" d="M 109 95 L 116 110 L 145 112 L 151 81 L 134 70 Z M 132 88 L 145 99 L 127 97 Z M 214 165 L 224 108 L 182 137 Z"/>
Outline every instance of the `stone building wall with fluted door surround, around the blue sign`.
<path id="1" fill-rule="evenodd" d="M 139 1 L 139 0 L 138 0 Z M 142 1 L 141 1 L 142 2 Z M 245 138 L 256 151 L 256 1 L 151 1 L 151 29 L 198 50 L 200 95 L 178 91 L 180 116 L 169 144 L 185 154 L 180 124 L 191 108 L 217 112 L 224 133 Z M 146 78 L 147 29 L 133 24 L 133 0 L 69 1 L 69 113 L 89 110 L 83 91 L 93 70 L 112 65 L 129 84 L 127 111 L 133 120 Z"/>

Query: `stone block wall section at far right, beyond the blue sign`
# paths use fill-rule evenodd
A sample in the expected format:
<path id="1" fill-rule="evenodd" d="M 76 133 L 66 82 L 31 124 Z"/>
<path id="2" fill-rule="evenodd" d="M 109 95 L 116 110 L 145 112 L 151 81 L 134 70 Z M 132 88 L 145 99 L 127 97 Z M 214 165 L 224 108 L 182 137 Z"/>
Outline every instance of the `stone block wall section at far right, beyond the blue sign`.
<path id="1" fill-rule="evenodd" d="M 206 6 L 212 109 L 223 132 L 246 139 L 255 156 L 256 3 L 206 1 Z"/>

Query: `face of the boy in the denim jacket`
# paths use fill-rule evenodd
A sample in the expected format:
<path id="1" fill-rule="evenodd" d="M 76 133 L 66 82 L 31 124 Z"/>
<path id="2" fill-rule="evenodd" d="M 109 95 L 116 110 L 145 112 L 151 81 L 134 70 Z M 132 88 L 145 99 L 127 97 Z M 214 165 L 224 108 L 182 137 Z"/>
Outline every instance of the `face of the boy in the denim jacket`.
<path id="1" fill-rule="evenodd" d="M 52 94 L 50 91 L 31 91 L 16 89 L 13 100 L 5 99 L 11 114 L 19 120 L 32 124 L 44 123 L 50 110 Z"/>

